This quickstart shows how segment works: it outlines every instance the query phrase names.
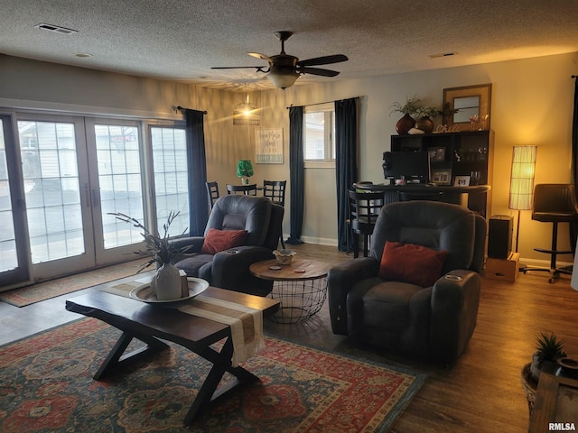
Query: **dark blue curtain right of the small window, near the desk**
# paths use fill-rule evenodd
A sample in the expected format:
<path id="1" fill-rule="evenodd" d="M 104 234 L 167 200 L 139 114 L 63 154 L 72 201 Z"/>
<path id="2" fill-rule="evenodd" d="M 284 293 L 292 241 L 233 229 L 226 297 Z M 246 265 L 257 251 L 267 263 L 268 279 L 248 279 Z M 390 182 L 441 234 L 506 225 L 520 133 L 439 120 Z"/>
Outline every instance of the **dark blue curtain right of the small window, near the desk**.
<path id="1" fill-rule="evenodd" d="M 357 97 L 353 97 L 335 101 L 337 239 L 340 251 L 347 251 L 347 245 L 353 244 L 353 235 L 347 225 L 347 219 L 350 217 L 348 191 L 358 177 L 357 99 Z"/>

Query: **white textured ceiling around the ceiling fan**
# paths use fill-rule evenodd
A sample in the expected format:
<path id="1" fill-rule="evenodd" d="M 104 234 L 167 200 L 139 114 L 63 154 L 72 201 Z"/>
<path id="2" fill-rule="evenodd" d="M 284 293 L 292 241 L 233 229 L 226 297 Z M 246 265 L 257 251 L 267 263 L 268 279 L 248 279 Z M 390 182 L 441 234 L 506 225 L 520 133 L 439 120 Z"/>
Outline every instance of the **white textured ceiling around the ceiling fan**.
<path id="1" fill-rule="evenodd" d="M 210 88 L 271 88 L 254 69 L 210 67 L 266 66 L 247 51 L 278 54 L 280 30 L 299 59 L 350 58 L 327 66 L 336 78 L 297 84 L 578 51 L 576 0 L 2 0 L 1 11 L 0 53 Z"/>

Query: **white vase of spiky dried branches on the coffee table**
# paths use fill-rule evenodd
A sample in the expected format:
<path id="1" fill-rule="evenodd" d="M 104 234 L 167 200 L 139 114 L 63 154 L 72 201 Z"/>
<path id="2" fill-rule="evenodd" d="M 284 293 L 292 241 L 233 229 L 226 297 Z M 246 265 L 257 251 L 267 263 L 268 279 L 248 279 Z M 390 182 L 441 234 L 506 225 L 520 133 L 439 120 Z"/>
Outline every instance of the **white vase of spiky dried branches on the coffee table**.
<path id="1" fill-rule="evenodd" d="M 125 223 L 132 224 L 143 231 L 141 235 L 144 237 L 144 250 L 135 251 L 135 254 L 148 257 L 148 261 L 143 263 L 136 273 L 156 263 L 156 273 L 151 280 L 151 290 L 156 296 L 156 299 L 174 300 L 182 298 L 181 274 L 179 270 L 172 265 L 172 258 L 176 254 L 185 253 L 185 251 L 184 249 L 173 247 L 170 242 L 171 236 L 169 235 L 169 228 L 171 227 L 172 221 L 178 217 L 179 212 L 169 213 L 169 217 L 163 225 L 163 236 L 159 235 L 158 232 L 152 234 L 140 221 L 122 212 L 109 213 L 108 215 L 112 215 Z M 181 237 L 185 232 L 186 229 L 177 237 Z"/>

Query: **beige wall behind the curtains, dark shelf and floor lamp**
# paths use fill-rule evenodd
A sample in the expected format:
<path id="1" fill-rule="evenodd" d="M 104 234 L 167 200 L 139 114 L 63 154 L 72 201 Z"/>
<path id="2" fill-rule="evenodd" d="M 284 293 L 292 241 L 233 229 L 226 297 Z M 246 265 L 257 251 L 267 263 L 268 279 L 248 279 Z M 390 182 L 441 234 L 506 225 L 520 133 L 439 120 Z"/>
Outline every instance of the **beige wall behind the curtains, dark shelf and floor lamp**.
<path id="1" fill-rule="evenodd" d="M 577 53 L 528 60 L 511 60 L 453 69 L 397 74 L 377 78 L 320 82 L 251 93 L 263 107 L 261 128 L 284 130 L 284 164 L 256 164 L 254 180 L 289 179 L 287 106 L 329 102 L 359 97 L 359 179 L 383 180 L 382 152 L 388 150 L 398 115 L 389 115 L 392 103 L 416 95 L 426 104 L 441 107 L 443 88 L 492 83 L 491 128 L 496 132 L 492 214 L 510 214 L 508 209 L 509 164 L 512 146 L 536 144 L 536 182 L 568 182 L 571 179 L 571 132 L 573 79 Z M 255 158 L 255 129 L 233 126 L 233 106 L 240 93 L 204 89 L 169 81 L 0 56 L 0 106 L 29 106 L 110 112 L 118 115 L 149 115 L 181 118 L 172 106 L 207 110 L 205 136 L 208 177 L 238 182 L 235 162 Z M 436 119 L 439 122 L 440 119 Z M 333 170 L 307 169 L 303 239 L 335 244 L 335 174 Z M 288 196 L 287 196 L 288 197 Z M 288 201 L 288 199 L 287 199 Z M 287 206 L 284 231 L 289 231 Z M 516 214 L 512 214 L 516 215 Z M 564 244 L 566 243 L 566 232 Z M 562 239 L 562 237 L 561 237 Z M 544 260 L 533 252 L 547 246 L 550 227 L 521 214 L 519 250 L 522 257 Z M 569 258 L 568 258 L 569 260 Z"/>

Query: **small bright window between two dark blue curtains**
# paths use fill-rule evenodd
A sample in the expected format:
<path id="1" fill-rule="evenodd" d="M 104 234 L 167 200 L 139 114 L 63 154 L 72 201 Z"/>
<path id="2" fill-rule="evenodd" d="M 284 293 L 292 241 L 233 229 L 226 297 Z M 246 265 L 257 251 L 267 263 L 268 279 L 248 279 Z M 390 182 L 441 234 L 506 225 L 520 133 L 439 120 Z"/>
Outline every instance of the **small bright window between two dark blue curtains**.
<path id="1" fill-rule="evenodd" d="M 335 161 L 335 109 L 332 103 L 304 108 L 303 159 L 305 161 Z"/>

